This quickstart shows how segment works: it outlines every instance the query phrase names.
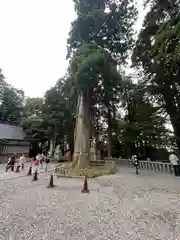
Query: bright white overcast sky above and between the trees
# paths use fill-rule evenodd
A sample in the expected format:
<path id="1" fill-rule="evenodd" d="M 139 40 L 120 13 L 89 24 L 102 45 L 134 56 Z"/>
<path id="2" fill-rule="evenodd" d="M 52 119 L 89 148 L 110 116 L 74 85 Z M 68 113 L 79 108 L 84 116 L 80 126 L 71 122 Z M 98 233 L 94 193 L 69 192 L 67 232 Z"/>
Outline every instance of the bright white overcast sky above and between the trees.
<path id="1" fill-rule="evenodd" d="M 142 9 L 138 0 L 139 9 Z M 63 2 L 63 4 L 62 4 Z M 0 68 L 26 96 L 43 96 L 65 74 L 72 0 L 0 0 Z M 141 11 L 136 28 L 141 27 Z"/>

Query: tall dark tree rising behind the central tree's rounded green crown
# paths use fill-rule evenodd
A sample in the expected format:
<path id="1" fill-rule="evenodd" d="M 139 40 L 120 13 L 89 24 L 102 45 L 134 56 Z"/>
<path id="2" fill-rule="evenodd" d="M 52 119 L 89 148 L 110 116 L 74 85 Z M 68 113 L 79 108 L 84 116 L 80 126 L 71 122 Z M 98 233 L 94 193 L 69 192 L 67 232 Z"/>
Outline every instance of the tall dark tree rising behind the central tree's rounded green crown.
<path id="1" fill-rule="evenodd" d="M 68 56 L 72 57 L 74 52 L 84 44 L 95 43 L 108 51 L 116 61 L 114 68 L 114 73 L 116 73 L 116 64 L 125 62 L 128 50 L 133 45 L 132 27 L 136 17 L 136 9 L 132 1 L 74 0 L 74 3 L 77 19 L 72 23 L 69 34 Z M 103 74 L 99 76 L 101 82 L 96 90 L 101 89 L 101 96 L 103 96 L 99 98 L 101 102 L 98 106 L 104 108 L 104 111 L 101 112 L 105 113 L 103 117 L 108 124 L 108 155 L 111 156 L 112 118 L 117 102 L 114 93 L 120 81 L 117 81 L 117 77 L 111 78 L 112 74 L 111 77 L 109 76 L 108 68 L 103 71 Z M 98 92 L 96 96 L 98 98 Z"/>

